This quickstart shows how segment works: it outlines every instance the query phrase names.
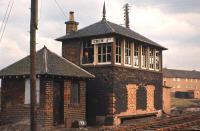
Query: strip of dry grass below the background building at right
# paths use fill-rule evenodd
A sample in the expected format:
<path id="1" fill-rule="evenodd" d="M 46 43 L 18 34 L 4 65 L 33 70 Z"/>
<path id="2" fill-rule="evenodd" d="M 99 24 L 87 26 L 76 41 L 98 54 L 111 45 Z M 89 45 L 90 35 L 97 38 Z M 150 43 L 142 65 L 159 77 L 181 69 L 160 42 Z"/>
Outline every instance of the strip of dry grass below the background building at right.
<path id="1" fill-rule="evenodd" d="M 200 99 L 171 98 L 172 107 L 188 108 L 200 107 Z"/>

